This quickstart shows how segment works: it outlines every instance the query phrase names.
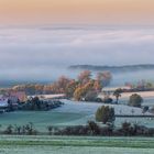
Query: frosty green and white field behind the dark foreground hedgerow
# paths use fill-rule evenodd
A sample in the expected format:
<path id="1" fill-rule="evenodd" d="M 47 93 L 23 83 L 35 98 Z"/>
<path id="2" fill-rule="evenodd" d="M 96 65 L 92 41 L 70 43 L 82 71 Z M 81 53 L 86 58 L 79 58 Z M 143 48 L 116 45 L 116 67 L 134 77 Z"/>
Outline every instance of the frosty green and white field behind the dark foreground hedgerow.
<path id="1" fill-rule="evenodd" d="M 96 110 L 102 105 L 88 103 L 88 102 L 66 102 L 61 108 L 51 111 L 15 111 L 0 114 L 0 129 L 6 129 L 9 124 L 23 125 L 32 122 L 37 131 L 46 132 L 48 125 L 54 127 L 67 127 L 67 125 L 80 125 L 86 124 L 89 120 L 95 120 Z M 116 112 L 122 110 L 123 113 L 130 113 L 132 108 L 127 106 L 114 106 Z M 141 109 L 134 109 L 136 113 L 141 112 Z M 117 118 L 116 125 L 120 127 L 122 122 L 130 121 L 132 123 L 139 123 L 146 127 L 154 127 L 154 119 L 150 118 Z"/>

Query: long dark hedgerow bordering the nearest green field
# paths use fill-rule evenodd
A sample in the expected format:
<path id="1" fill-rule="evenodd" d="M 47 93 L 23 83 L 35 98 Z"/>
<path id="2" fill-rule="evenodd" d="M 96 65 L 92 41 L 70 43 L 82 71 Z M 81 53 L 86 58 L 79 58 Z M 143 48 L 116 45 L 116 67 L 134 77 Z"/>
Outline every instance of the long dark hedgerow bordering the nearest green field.
<path id="1" fill-rule="evenodd" d="M 57 128 L 54 125 L 46 127 L 47 132 L 38 132 L 32 122 L 24 125 L 9 124 L 3 131 L 0 125 L 0 134 L 18 135 L 87 135 L 87 136 L 154 136 L 154 128 L 146 128 L 130 122 L 121 123 L 120 128 L 112 125 L 101 127 L 95 121 L 88 121 L 86 125 L 74 125 Z"/>

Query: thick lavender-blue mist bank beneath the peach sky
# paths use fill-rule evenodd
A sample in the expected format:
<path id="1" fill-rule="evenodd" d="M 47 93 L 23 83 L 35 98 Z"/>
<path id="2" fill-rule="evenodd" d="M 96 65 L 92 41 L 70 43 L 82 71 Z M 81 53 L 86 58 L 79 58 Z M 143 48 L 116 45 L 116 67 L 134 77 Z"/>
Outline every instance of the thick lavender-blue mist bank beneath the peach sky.
<path id="1" fill-rule="evenodd" d="M 0 80 L 51 81 L 61 75 L 77 75 L 66 70 L 70 65 L 154 64 L 153 57 L 153 28 L 0 29 Z M 136 76 L 151 79 L 143 75 Z M 116 77 L 116 81 L 122 79 L 119 75 Z"/>

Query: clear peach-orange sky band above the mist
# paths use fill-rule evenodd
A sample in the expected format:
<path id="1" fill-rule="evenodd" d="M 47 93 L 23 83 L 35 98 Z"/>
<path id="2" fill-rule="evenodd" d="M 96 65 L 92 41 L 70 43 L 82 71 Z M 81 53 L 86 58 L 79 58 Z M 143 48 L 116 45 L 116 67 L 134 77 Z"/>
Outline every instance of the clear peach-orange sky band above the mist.
<path id="1" fill-rule="evenodd" d="M 153 0 L 0 0 L 1 24 L 154 24 Z"/>

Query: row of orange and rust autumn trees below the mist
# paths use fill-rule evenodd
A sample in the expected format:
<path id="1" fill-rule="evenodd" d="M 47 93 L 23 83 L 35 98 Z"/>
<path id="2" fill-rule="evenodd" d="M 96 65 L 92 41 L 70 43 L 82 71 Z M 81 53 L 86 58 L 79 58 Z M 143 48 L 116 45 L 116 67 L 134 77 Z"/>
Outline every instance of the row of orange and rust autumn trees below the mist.
<path id="1" fill-rule="evenodd" d="M 25 91 L 26 95 L 51 95 L 65 94 L 67 98 L 75 100 L 91 100 L 101 91 L 102 87 L 110 84 L 112 75 L 110 72 L 98 73 L 96 77 L 91 72 L 81 72 L 76 79 L 65 76 L 48 85 L 26 84 L 14 86 L 9 90 Z M 4 89 L 3 89 L 4 90 Z"/>

